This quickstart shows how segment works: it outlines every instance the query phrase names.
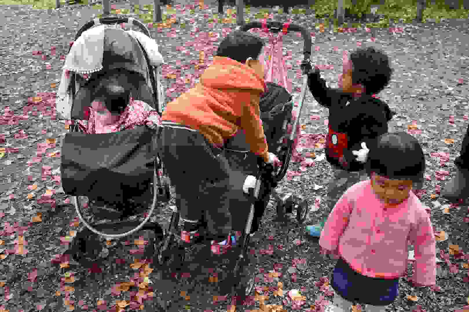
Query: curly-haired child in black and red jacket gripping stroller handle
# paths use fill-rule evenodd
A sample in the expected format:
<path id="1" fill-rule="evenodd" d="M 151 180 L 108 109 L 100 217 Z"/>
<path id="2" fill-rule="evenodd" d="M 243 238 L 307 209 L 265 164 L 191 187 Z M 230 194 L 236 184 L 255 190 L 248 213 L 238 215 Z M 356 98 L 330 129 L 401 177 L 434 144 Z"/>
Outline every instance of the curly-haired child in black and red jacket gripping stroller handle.
<path id="1" fill-rule="evenodd" d="M 308 75 L 311 94 L 321 106 L 329 109 L 325 147 L 326 160 L 333 171 L 327 193 L 329 212 L 346 189 L 367 179 L 363 163 L 356 159 L 353 151 L 360 150 L 363 142 L 369 144 L 388 131 L 387 123 L 394 113 L 374 94 L 387 86 L 392 72 L 383 52 L 366 48 L 352 52 L 344 61 L 339 89 L 326 87 L 318 68 Z M 309 225 L 310 235 L 319 237 L 324 222 Z"/>

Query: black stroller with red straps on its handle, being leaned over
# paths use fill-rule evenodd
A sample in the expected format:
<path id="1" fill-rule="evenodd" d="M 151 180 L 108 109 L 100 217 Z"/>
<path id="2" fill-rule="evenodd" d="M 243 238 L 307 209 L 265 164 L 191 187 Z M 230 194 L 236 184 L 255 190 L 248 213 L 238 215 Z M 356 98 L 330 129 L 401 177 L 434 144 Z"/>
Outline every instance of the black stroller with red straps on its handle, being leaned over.
<path id="1" fill-rule="evenodd" d="M 262 30 L 260 29 L 262 27 Z M 261 120 L 263 122 L 265 137 L 269 146 L 269 151 L 277 154 L 282 166 L 278 168 L 273 177 L 262 181 L 259 198 L 256 202 L 256 210 L 252 225 L 252 232 L 256 232 L 259 222 L 264 214 L 265 208 L 272 195 L 275 199 L 277 210 L 277 221 L 285 221 L 286 213 L 293 213 L 296 209 L 296 220 L 302 223 L 308 212 L 308 203 L 295 196 L 280 196 L 274 190 L 280 180 L 287 173 L 292 153 L 296 147 L 297 136 L 300 134 L 299 116 L 293 113 L 293 97 L 291 95 L 291 83 L 287 79 L 287 71 L 285 62 L 282 58 L 282 41 L 283 34 L 290 31 L 298 31 L 295 25 L 283 24 L 281 22 L 255 22 L 245 25 L 242 31 L 257 28 L 262 32 L 268 33 L 269 45 L 265 49 L 269 56 L 265 58 L 267 64 L 267 89 L 260 101 Z M 280 33 L 280 34 L 279 34 Z M 278 34 L 274 36 L 274 34 Z M 310 36 L 305 36 L 304 51 L 310 51 Z M 275 72 L 274 72 L 275 69 Z M 277 83 L 275 83 L 276 81 Z M 302 90 L 303 91 L 303 90 Z M 300 112 L 304 101 L 304 93 L 300 96 Z M 299 114 L 296 114 L 299 115 Z M 227 151 L 227 159 L 230 166 L 245 174 L 256 174 L 256 155 L 250 152 L 244 133 L 238 132 L 233 139 L 225 145 Z"/>

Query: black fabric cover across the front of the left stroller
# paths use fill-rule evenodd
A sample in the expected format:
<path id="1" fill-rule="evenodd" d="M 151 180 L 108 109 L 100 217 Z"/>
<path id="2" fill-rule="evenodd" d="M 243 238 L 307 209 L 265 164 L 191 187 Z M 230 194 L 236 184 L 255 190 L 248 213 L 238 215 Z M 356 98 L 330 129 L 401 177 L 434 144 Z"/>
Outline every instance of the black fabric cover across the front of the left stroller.
<path id="1" fill-rule="evenodd" d="M 67 133 L 61 153 L 65 194 L 121 204 L 147 193 L 154 174 L 155 135 L 145 126 L 105 134 Z"/>

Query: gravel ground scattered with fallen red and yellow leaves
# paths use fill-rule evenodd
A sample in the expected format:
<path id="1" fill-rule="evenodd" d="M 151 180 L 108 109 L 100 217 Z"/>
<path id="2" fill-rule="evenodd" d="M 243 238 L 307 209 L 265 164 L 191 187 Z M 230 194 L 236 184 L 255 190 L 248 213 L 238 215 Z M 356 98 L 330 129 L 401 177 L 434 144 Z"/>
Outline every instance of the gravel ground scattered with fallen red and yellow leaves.
<path id="1" fill-rule="evenodd" d="M 128 3 L 112 4 L 113 13 L 127 13 L 120 10 L 129 8 Z M 166 101 L 197 83 L 221 39 L 235 28 L 234 10 L 210 21 L 218 10 L 216 2 L 205 2 L 204 7 L 175 4 L 165 8 L 165 24 L 151 27 L 167 63 L 163 66 Z M 286 21 L 286 15 L 269 10 L 268 19 Z M 87 266 L 60 257 L 83 225 L 61 189 L 60 147 L 68 125 L 56 115 L 54 93 L 69 42 L 99 13 L 89 5 L 57 10 L 11 5 L 3 6 L 0 13 L 0 311 L 159 311 L 157 307 L 166 301 L 171 302 L 167 311 L 234 311 L 229 298 L 219 297 L 217 280 L 226 272 L 220 270 L 223 261 L 208 247 L 192 251 L 187 272 L 172 278 L 136 260 L 148 248 L 145 242 L 151 241 L 151 233 L 102 241 L 102 258 Z M 246 15 L 255 20 L 259 13 L 264 11 L 251 8 Z M 448 20 L 333 32 L 308 15 L 288 18 L 311 30 L 311 59 L 329 86 L 337 87 L 344 51 L 357 46 L 385 51 L 394 74 L 378 97 L 398 113 L 390 131 L 408 131 L 424 148 L 425 183 L 417 195 L 428 207 L 436 232 L 438 286 L 411 287 L 409 264 L 399 296 L 387 311 L 469 311 L 468 204 L 450 205 L 439 196 L 454 174 L 453 161 L 468 125 L 467 24 Z M 291 33 L 283 42 L 297 96 L 303 41 Z M 275 223 L 275 208 L 269 203 L 255 238 L 256 296 L 237 311 L 324 311 L 333 298 L 329 278 L 335 261 L 319 256 L 317 239 L 304 235 L 304 225 L 326 216 L 321 199 L 331 178 L 324 157 L 328 111 L 309 92 L 306 103 L 301 143 L 277 192 L 305 198 L 309 216 L 303 225 L 294 219 Z M 171 210 L 163 210 L 153 220 L 166 226 L 170 214 Z M 295 297 L 297 292 L 291 290 L 303 297 Z"/>

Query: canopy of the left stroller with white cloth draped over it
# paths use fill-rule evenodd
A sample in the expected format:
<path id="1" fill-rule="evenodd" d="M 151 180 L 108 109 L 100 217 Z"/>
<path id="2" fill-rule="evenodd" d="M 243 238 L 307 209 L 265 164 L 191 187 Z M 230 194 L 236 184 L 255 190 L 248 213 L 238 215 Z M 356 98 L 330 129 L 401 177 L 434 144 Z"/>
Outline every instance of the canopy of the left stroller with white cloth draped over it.
<path id="1" fill-rule="evenodd" d="M 96 45 L 101 43 L 102 48 L 97 48 Z M 85 119 L 83 112 L 93 100 L 92 91 L 96 87 L 97 80 L 103 74 L 117 69 L 137 73 L 140 79 L 134 77 L 131 79 L 135 89 L 138 90 L 139 98 L 136 99 L 147 102 L 152 107 L 155 106 L 151 96 L 154 90 L 149 78 L 150 66 L 142 45 L 129 32 L 101 25 L 83 32 L 72 45 L 65 61 L 59 96 L 64 96 L 64 92 L 70 92 L 71 83 L 74 82 L 66 77 L 66 70 L 78 73 L 75 77 L 79 89 L 71 103 L 70 119 Z M 83 77 L 84 74 L 88 74 L 88 77 Z M 68 112 L 61 113 L 63 116 L 68 114 Z"/>

